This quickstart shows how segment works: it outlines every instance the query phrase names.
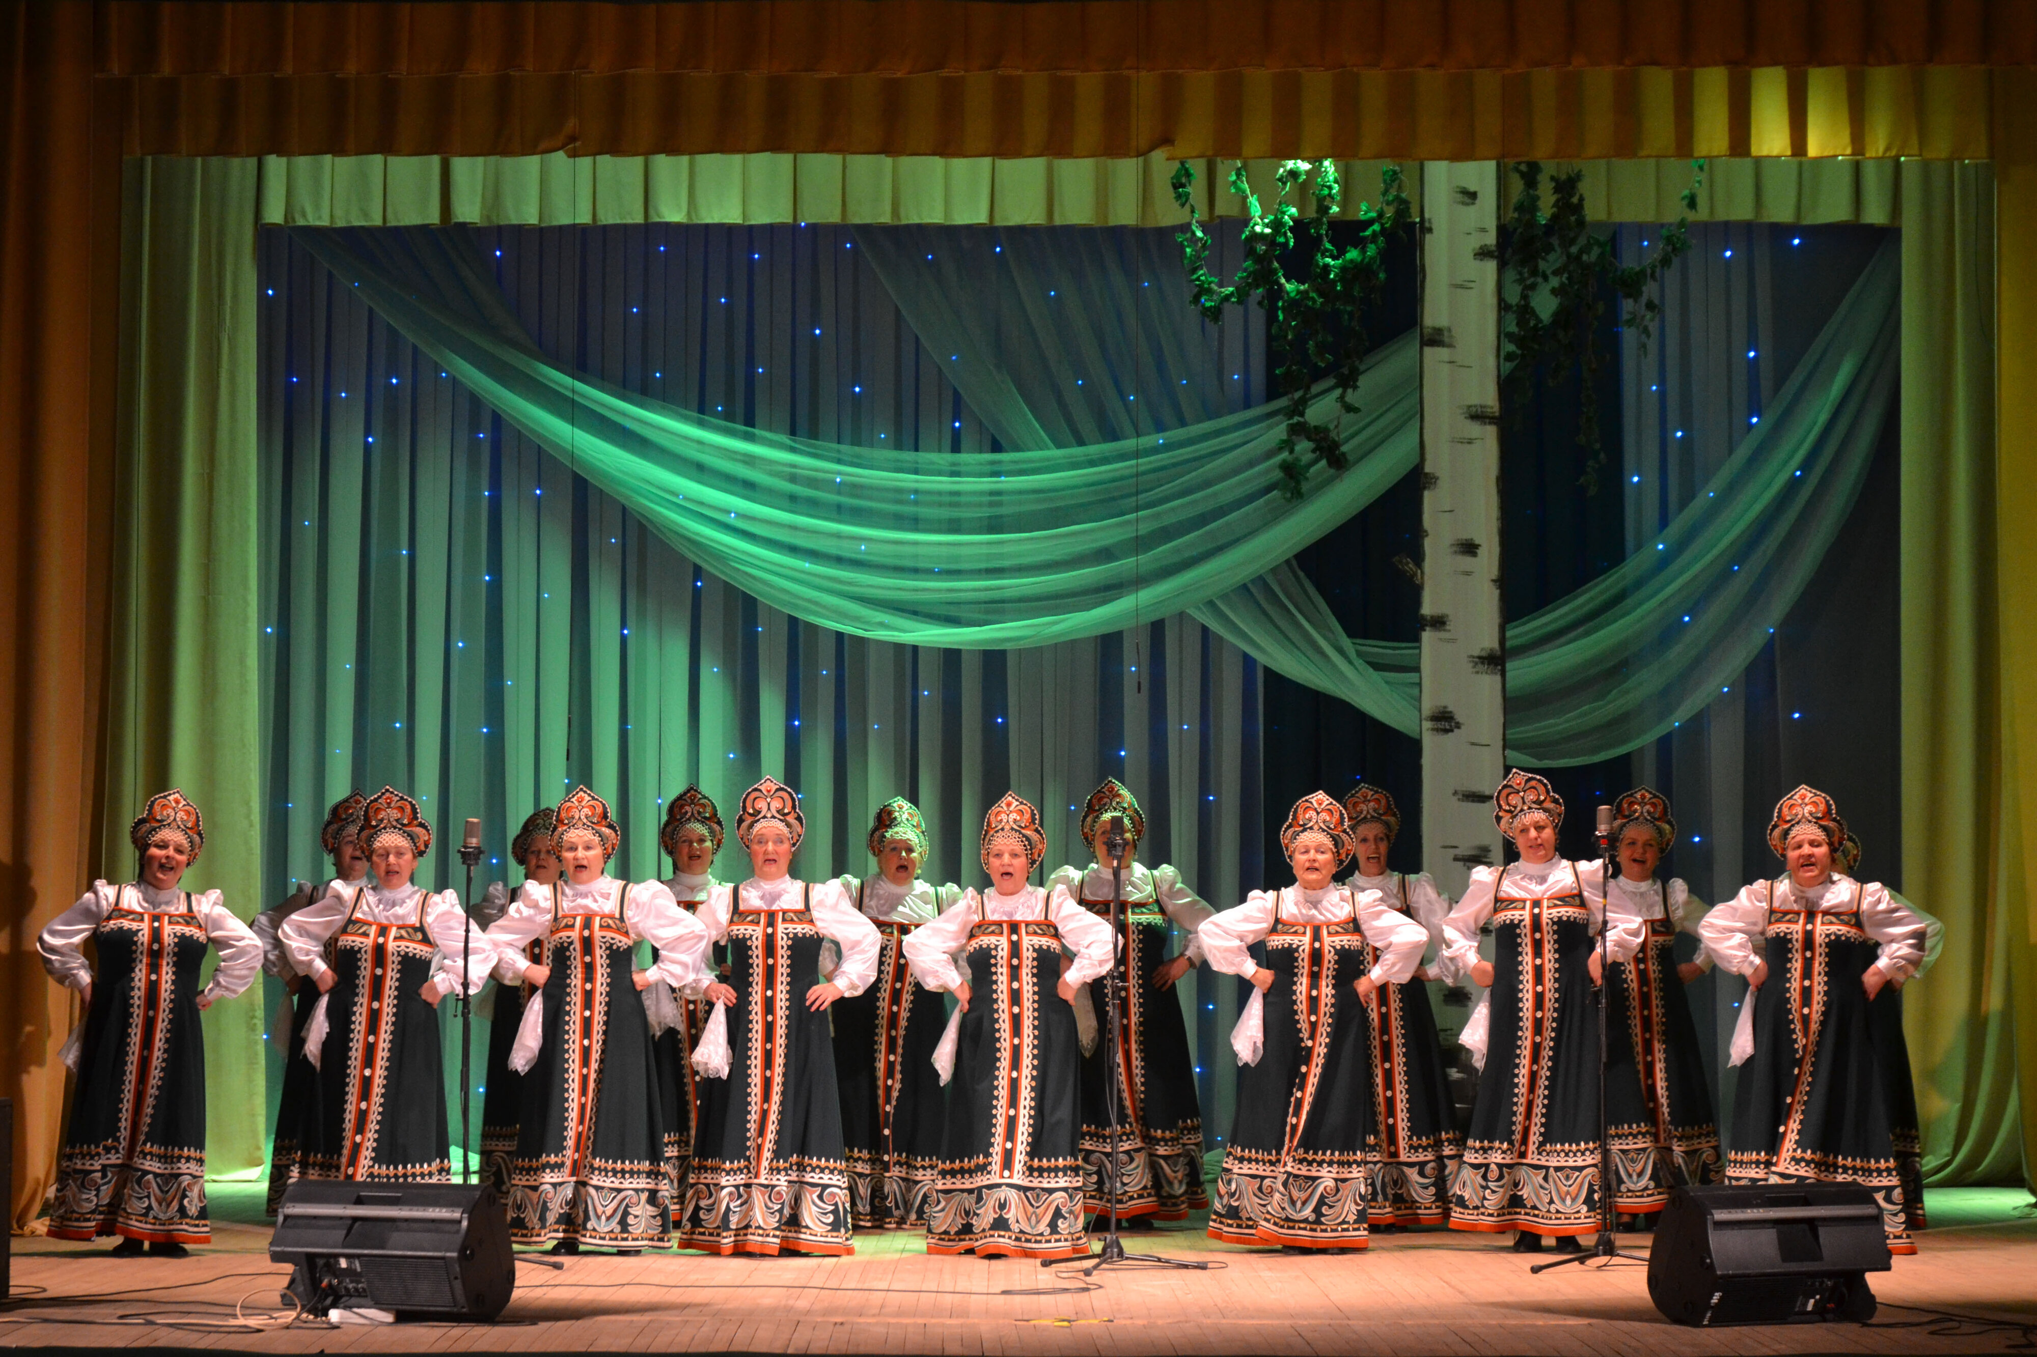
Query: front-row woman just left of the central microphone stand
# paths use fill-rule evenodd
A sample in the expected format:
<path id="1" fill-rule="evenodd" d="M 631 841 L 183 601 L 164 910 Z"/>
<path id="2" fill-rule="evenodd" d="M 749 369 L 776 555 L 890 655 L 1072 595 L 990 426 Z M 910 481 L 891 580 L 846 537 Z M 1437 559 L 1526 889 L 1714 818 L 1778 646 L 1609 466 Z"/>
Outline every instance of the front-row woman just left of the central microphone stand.
<path id="1" fill-rule="evenodd" d="M 904 956 L 957 1009 L 935 1055 L 947 1137 L 927 1204 L 929 1253 L 1078 1257 L 1082 1039 L 1076 988 L 1110 970 L 1110 925 L 1027 878 L 1047 856 L 1039 809 L 1012 793 L 984 815 L 990 890 L 913 929 Z M 1067 972 L 1061 949 L 1073 952 Z M 959 966 L 957 966 L 959 960 Z"/>

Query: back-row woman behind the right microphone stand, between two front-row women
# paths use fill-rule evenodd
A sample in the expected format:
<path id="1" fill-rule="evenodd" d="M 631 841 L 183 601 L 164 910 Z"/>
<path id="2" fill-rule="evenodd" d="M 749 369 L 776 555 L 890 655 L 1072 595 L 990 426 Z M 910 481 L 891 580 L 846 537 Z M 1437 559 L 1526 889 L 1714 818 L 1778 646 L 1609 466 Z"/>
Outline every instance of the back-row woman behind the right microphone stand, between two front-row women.
<path id="1" fill-rule="evenodd" d="M 1691 901 L 1681 878 L 1656 880 L 1662 854 L 1676 842 L 1668 799 L 1648 786 L 1619 797 L 1611 842 L 1619 866 L 1605 909 L 1632 919 L 1644 941 L 1632 962 L 1613 966 L 1605 994 L 1605 1127 L 1617 1176 L 1613 1206 L 1646 1229 L 1668 1204 L 1670 1188 L 1725 1174 L 1697 1023 L 1683 992 L 1709 962 L 1676 964 L 1676 935 L 1697 933 L 1703 903 Z"/>

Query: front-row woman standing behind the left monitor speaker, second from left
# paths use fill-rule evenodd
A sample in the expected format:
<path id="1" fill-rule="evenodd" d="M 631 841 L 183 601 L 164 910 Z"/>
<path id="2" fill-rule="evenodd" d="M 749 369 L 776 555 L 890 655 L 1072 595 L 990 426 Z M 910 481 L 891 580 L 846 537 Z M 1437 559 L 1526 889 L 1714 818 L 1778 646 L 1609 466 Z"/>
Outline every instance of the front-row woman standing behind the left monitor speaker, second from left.
<path id="1" fill-rule="evenodd" d="M 318 1112 L 304 1178 L 448 1182 L 438 1000 L 487 984 L 495 952 L 452 890 L 411 876 L 432 825 L 393 786 L 361 811 L 369 878 L 328 890 L 277 929 L 297 974 L 318 986 L 306 1055 L 318 1068 Z"/>

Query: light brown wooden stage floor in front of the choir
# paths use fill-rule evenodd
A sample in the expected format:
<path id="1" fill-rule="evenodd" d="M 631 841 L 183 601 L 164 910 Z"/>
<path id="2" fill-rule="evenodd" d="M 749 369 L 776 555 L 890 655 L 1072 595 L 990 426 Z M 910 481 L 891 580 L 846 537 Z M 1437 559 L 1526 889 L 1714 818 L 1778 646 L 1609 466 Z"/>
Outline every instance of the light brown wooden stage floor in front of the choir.
<path id="1" fill-rule="evenodd" d="M 210 1347 L 261 1353 L 699 1351 L 699 1353 L 1994 1353 L 2015 1331 L 1935 1335 L 1894 1304 L 2037 1324 L 2037 1218 L 2021 1192 L 1935 1192 L 1917 1257 L 1874 1280 L 1874 1324 L 1697 1331 L 1664 1322 L 1646 1267 L 1560 1267 L 1497 1237 L 1424 1231 L 1353 1257 L 1218 1245 L 1194 1229 L 1128 1235 L 1208 1273 L 929 1257 L 911 1235 L 860 1237 L 841 1259 L 585 1255 L 519 1265 L 497 1324 L 234 1331 L 234 1304 L 275 1308 L 287 1269 L 267 1259 L 259 1198 L 214 1198 L 216 1243 L 189 1259 L 114 1259 L 106 1243 L 14 1241 L 8 1347 Z M 1646 1235 L 1623 1243 L 1646 1251 Z M 1548 1257 L 1548 1255 L 1544 1255 Z M 1905 1324 L 1905 1326 L 1898 1326 Z"/>

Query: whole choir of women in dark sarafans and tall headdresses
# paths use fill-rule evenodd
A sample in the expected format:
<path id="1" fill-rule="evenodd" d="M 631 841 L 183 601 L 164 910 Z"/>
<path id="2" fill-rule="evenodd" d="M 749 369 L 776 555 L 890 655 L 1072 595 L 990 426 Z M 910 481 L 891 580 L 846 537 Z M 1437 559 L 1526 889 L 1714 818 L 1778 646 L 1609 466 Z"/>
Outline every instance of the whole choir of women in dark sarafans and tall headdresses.
<path id="1" fill-rule="evenodd" d="M 1312 793 L 1279 835 L 1293 884 L 1212 913 L 1175 868 L 1139 864 L 1145 815 L 1114 778 L 1084 807 L 1092 864 L 1043 886 L 1039 811 L 1006 793 L 984 817 L 986 890 L 921 876 L 927 821 L 902 797 L 870 827 L 872 874 L 792 876 L 805 815 L 772 778 L 735 817 L 748 880 L 715 880 L 721 815 L 689 786 L 658 835 L 672 876 L 621 882 L 621 831 L 583 786 L 524 821 L 509 848 L 521 890 L 501 917 L 477 907 L 483 931 L 452 892 L 414 884 L 432 827 L 383 786 L 326 815 L 332 878 L 251 929 L 218 890 L 179 888 L 204 819 L 161 793 L 130 829 L 136 880 L 96 882 L 37 943 L 86 1005 L 65 1043 L 77 1088 L 49 1233 L 118 1235 L 124 1255 L 210 1239 L 200 1011 L 261 970 L 287 990 L 271 1212 L 299 1178 L 446 1182 L 444 1098 L 416 1092 L 444 1088 L 438 1000 L 493 974 L 481 1145 L 519 1243 L 839 1255 L 858 1229 L 909 1227 L 931 1253 L 1078 1257 L 1086 1216 L 1112 1204 L 1151 1225 L 1210 1200 L 1173 988 L 1208 960 L 1253 986 L 1214 1239 L 1334 1253 L 1375 1225 L 1448 1223 L 1575 1251 L 1607 1192 L 1603 982 L 1609 1196 L 1626 1225 L 1721 1176 L 1856 1182 L 1890 1249 L 1913 1253 L 1923 1182 L 1901 988 L 1941 927 L 1852 876 L 1860 842 L 1831 797 L 1784 797 L 1768 831 L 1782 876 L 1709 913 L 1658 874 L 1676 821 L 1652 789 L 1619 797 L 1609 862 L 1558 854 L 1562 799 L 1536 774 L 1507 774 L 1493 819 L 1518 860 L 1473 870 L 1452 907 L 1428 874 L 1389 868 L 1391 795 Z M 1701 952 L 1678 964 L 1683 933 Z M 208 949 L 220 962 L 200 986 Z M 1723 1163 L 1683 992 L 1713 960 L 1750 986 Z M 1487 990 L 1463 1037 L 1481 1064 L 1465 1137 L 1432 978 Z"/>

